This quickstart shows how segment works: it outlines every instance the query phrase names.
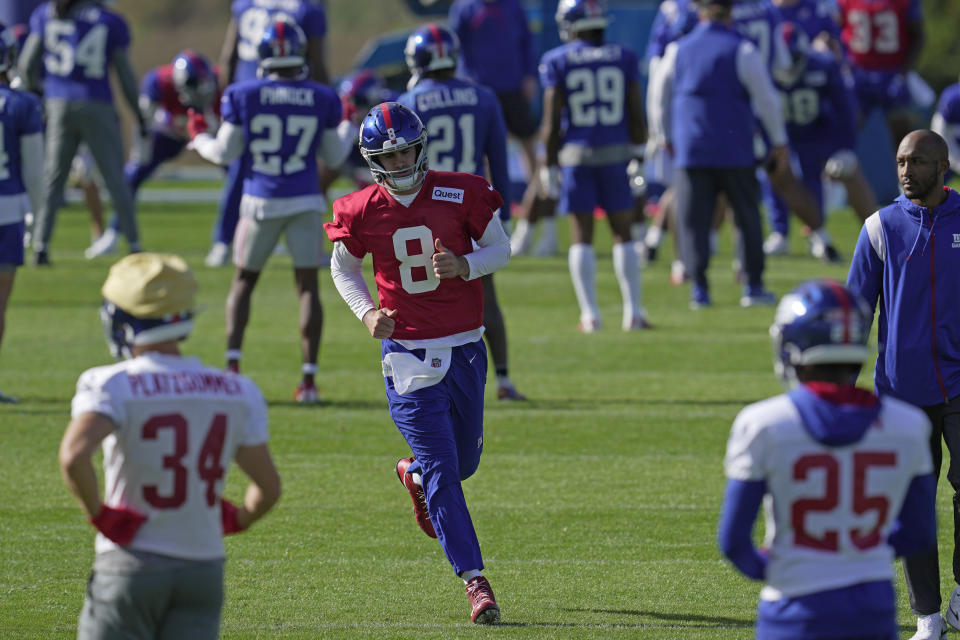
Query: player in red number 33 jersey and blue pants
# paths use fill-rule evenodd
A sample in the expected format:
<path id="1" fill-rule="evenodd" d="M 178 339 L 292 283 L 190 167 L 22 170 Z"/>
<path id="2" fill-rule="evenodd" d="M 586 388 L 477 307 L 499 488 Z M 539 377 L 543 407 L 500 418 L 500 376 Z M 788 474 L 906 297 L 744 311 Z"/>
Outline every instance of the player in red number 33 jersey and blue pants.
<path id="1" fill-rule="evenodd" d="M 914 129 L 907 77 L 925 38 L 920 0 L 838 0 L 837 7 L 861 115 L 880 108 L 896 149 Z"/>

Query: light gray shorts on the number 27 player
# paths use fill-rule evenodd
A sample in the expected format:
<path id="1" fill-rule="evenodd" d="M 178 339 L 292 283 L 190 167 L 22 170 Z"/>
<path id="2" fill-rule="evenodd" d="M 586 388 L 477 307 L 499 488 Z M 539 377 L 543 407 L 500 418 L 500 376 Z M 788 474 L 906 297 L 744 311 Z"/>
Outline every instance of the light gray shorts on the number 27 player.
<path id="1" fill-rule="evenodd" d="M 276 218 L 240 218 L 233 236 L 233 263 L 247 271 L 262 271 L 281 234 L 290 251 L 293 266 L 308 269 L 320 266 L 320 212 L 303 211 Z"/>

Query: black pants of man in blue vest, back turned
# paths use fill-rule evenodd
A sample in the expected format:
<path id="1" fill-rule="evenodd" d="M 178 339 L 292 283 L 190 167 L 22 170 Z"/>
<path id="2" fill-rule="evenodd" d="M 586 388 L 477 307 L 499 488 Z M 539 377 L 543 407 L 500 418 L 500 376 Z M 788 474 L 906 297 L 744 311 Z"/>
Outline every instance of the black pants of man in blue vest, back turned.
<path id="1" fill-rule="evenodd" d="M 763 227 L 760 187 L 753 167 L 678 167 L 673 178 L 677 198 L 677 230 L 687 273 L 704 289 L 710 264 L 710 229 L 717 196 L 723 193 L 740 230 L 747 284 L 763 286 Z"/>

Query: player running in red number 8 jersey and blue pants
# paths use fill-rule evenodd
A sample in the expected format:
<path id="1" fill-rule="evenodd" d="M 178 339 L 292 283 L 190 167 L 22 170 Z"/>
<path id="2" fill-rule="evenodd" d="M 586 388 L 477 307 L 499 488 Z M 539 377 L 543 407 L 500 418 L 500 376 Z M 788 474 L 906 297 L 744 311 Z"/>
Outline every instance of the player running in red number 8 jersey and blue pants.
<path id="1" fill-rule="evenodd" d="M 333 222 L 324 225 L 334 243 L 330 271 L 344 301 L 381 340 L 390 417 L 413 451 L 396 471 L 417 524 L 439 539 L 463 579 L 471 619 L 495 624 L 500 608 L 481 573 L 460 483 L 483 451 L 479 278 L 507 264 L 510 241 L 500 194 L 479 176 L 428 171 L 426 140 L 420 118 L 395 102 L 364 118 L 360 151 L 376 184 L 333 203 Z M 361 273 L 368 253 L 379 305 Z"/>

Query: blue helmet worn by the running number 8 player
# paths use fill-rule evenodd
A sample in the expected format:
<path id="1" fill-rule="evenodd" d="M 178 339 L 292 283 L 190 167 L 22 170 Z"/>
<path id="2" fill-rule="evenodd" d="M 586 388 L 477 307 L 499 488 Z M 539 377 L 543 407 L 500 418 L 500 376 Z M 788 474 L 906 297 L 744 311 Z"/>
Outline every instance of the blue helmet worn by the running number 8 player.
<path id="1" fill-rule="evenodd" d="M 413 163 L 388 170 L 382 156 L 416 149 Z M 382 102 L 360 123 L 360 155 L 370 165 L 377 184 L 389 191 L 406 192 L 423 184 L 427 176 L 427 130 L 413 111 L 396 102 Z"/>

